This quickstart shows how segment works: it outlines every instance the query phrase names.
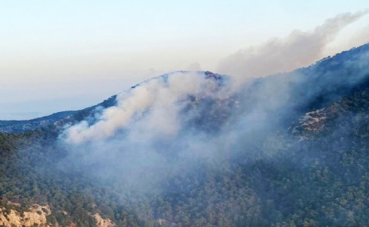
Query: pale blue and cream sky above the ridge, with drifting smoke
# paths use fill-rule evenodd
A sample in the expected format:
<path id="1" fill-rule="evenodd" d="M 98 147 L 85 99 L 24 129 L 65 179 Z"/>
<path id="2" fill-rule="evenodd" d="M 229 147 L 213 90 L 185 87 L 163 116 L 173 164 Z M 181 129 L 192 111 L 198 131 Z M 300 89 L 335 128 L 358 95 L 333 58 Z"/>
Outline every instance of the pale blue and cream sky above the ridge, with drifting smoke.
<path id="1" fill-rule="evenodd" d="M 0 119 L 83 109 L 175 70 L 292 70 L 369 42 L 368 8 L 364 0 L 0 0 Z M 277 56 L 283 68 L 275 59 L 262 61 L 269 70 L 247 68 L 254 56 L 292 56 L 296 47 L 308 49 Z"/>

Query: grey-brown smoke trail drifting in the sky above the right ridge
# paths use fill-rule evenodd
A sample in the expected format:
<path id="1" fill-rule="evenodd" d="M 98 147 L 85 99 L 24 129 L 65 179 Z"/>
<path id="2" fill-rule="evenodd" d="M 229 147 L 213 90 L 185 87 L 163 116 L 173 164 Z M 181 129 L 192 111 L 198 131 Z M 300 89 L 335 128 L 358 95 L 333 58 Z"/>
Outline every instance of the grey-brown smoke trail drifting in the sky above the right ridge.
<path id="1" fill-rule="evenodd" d="M 313 31 L 294 30 L 288 37 L 270 39 L 259 46 L 239 49 L 218 65 L 218 72 L 249 78 L 308 66 L 323 58 L 323 51 L 337 33 L 368 13 L 342 13 Z"/>

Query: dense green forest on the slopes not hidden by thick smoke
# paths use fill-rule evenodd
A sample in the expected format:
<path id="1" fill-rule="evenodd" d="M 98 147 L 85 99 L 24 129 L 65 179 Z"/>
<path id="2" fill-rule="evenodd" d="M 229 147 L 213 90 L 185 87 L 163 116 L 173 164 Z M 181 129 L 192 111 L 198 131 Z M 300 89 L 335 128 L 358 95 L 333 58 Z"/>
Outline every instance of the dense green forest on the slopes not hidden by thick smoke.
<path id="1" fill-rule="evenodd" d="M 48 204 L 52 226 L 96 226 L 96 213 L 116 226 L 369 226 L 369 73 L 362 70 L 369 68 L 368 46 L 256 79 L 225 100 L 188 97 L 191 105 L 181 112 L 191 116 L 183 123 L 186 132 L 221 140 L 220 131 L 238 124 L 237 146 L 211 153 L 216 159 L 182 162 L 176 153 L 180 140 L 155 140 L 166 161 L 184 167 L 158 179 L 149 175 L 139 190 L 125 176 L 96 174 L 108 175 L 100 162 L 70 164 L 70 147 L 60 145 L 65 125 L 82 119 L 93 124 L 101 107 L 29 132 L 0 134 L 1 207 L 22 213 L 32 204 Z M 296 72 L 304 74 L 298 82 Z M 274 104 L 286 89 L 279 82 L 272 99 L 255 94 L 286 78 L 293 78 L 286 85 L 292 95 L 280 106 L 261 108 L 259 102 Z M 114 99 L 103 107 L 116 104 Z M 234 124 L 255 109 L 263 109 L 257 113 L 265 115 L 265 124 Z"/>

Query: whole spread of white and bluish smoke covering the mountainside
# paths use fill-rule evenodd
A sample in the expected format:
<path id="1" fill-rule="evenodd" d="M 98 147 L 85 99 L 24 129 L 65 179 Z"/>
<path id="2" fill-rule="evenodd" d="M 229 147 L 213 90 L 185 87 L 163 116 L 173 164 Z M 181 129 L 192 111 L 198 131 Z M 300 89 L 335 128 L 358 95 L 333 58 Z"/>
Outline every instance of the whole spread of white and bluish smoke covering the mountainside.
<path id="1" fill-rule="evenodd" d="M 272 159 L 283 152 L 281 138 L 273 135 L 280 123 L 305 113 L 299 107 L 312 108 L 316 99 L 330 102 L 367 78 L 368 57 L 368 51 L 358 51 L 337 70 L 312 66 L 237 86 L 232 77 L 218 80 L 204 72 L 147 80 L 119 94 L 118 104 L 102 109 L 96 121 L 66 128 L 61 146 L 68 156 L 60 166 L 121 184 L 124 194 L 160 192 L 165 180 L 202 164 Z"/>

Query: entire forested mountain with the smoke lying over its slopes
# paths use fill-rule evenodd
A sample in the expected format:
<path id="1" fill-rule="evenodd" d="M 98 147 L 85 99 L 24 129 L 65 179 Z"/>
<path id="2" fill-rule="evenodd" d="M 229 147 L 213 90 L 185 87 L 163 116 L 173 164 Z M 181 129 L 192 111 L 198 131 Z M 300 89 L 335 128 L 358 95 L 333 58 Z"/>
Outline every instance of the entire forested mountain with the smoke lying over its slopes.
<path id="1" fill-rule="evenodd" d="M 0 134 L 4 218 L 39 204 L 50 226 L 368 226 L 369 44 L 233 81 L 170 73 Z"/>

